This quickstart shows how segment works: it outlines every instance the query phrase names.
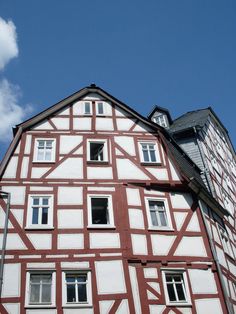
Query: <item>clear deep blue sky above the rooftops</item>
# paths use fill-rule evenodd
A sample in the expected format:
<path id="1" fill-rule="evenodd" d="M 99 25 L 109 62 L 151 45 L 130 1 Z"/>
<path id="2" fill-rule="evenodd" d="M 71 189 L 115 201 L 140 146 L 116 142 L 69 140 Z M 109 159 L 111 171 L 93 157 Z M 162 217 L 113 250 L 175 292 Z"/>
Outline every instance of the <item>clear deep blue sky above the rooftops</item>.
<path id="1" fill-rule="evenodd" d="M 13 99 L 16 124 L 96 83 L 143 115 L 154 104 L 173 118 L 212 106 L 235 145 L 235 16 L 235 0 L 1 0 L 17 47 L 0 69 L 10 93 L 0 102 Z"/>

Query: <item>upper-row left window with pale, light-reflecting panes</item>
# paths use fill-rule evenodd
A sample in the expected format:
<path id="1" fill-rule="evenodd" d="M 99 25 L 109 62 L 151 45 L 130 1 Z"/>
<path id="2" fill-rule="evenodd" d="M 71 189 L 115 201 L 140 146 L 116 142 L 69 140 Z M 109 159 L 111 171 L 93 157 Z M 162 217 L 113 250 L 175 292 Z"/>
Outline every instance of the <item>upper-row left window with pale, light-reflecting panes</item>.
<path id="1" fill-rule="evenodd" d="M 34 161 L 55 161 L 55 139 L 36 139 Z"/>

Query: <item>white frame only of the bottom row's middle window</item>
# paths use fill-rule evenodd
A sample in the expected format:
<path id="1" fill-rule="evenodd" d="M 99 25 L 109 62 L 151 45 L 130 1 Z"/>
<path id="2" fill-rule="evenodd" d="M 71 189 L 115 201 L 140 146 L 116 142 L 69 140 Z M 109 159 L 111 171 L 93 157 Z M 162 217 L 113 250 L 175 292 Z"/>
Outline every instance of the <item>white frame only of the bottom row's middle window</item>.
<path id="1" fill-rule="evenodd" d="M 66 275 L 87 275 L 87 302 L 67 302 L 67 286 L 66 286 Z M 86 308 L 92 307 L 92 284 L 91 284 L 91 271 L 90 270 L 63 270 L 62 272 L 62 306 L 64 308 Z"/>

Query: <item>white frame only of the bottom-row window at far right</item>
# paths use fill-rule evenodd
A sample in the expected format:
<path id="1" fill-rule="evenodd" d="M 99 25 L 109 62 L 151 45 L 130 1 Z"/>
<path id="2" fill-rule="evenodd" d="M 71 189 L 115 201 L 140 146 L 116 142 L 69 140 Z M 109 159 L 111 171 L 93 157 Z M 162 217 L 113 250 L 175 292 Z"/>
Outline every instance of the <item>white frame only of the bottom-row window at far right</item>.
<path id="1" fill-rule="evenodd" d="M 186 271 L 184 269 L 161 269 L 162 273 L 162 282 L 164 287 L 164 294 L 166 299 L 167 305 L 174 305 L 174 306 L 189 306 L 191 305 L 191 298 L 190 298 L 190 292 L 189 292 L 189 285 L 188 285 L 188 278 Z M 167 289 L 167 282 L 166 282 L 166 274 L 178 274 L 183 276 L 183 291 L 186 297 L 186 301 L 170 301 L 169 299 L 169 293 Z M 176 291 L 175 291 L 176 292 Z"/>

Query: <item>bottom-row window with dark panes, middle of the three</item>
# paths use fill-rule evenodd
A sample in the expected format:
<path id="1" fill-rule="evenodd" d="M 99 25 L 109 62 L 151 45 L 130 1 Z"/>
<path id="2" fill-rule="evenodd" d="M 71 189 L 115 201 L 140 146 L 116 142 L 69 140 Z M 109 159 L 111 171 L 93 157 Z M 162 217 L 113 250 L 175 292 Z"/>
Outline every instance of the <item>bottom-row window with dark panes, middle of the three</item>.
<path id="1" fill-rule="evenodd" d="M 91 273 L 89 271 L 63 272 L 63 305 L 91 306 Z"/>

